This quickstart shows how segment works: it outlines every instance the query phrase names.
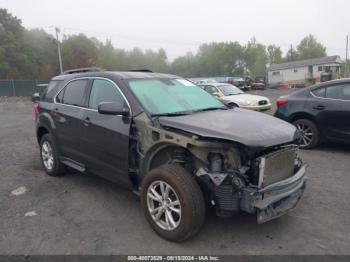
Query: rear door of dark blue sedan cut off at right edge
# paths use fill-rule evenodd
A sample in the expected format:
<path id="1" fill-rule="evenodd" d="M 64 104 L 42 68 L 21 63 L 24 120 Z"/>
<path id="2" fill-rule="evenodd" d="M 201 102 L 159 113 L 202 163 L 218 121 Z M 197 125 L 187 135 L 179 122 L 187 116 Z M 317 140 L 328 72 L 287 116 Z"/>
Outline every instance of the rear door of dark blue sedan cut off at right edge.
<path id="1" fill-rule="evenodd" d="M 350 141 L 350 83 L 318 88 L 312 94 L 309 106 L 318 119 L 323 135 Z"/>

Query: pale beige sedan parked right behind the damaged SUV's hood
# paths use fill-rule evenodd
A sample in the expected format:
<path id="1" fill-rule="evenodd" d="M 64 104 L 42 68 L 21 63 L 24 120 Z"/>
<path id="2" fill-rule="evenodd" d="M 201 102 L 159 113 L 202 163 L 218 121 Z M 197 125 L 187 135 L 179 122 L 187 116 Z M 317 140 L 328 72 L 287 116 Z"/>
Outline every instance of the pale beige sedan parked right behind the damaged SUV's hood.
<path id="1" fill-rule="evenodd" d="M 210 83 L 201 85 L 209 94 L 217 97 L 224 104 L 257 111 L 271 109 L 270 100 L 264 96 L 246 94 L 230 84 Z"/>

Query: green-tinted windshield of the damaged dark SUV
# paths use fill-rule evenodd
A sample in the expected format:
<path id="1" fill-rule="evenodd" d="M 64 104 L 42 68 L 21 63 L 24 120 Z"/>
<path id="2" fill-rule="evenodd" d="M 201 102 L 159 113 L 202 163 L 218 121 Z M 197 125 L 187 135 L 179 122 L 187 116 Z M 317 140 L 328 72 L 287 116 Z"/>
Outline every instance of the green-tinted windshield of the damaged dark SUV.
<path id="1" fill-rule="evenodd" d="M 128 83 L 152 115 L 224 108 L 220 101 L 185 79 L 137 79 Z"/>

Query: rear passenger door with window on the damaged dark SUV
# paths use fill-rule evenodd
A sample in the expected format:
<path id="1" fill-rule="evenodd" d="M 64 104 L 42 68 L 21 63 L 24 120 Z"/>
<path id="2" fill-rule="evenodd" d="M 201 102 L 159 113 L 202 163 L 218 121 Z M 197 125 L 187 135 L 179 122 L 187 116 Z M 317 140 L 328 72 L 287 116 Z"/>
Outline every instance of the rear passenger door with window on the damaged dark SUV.
<path id="1" fill-rule="evenodd" d="M 77 162 L 83 160 L 83 116 L 87 107 L 87 79 L 69 82 L 57 95 L 52 111 L 58 146 L 64 157 Z"/>

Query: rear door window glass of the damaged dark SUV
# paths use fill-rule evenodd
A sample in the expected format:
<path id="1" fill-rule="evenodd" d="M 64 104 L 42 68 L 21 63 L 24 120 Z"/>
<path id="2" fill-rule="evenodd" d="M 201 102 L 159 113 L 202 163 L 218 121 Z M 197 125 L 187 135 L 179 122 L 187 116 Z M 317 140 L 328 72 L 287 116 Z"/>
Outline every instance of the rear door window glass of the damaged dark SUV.
<path id="1" fill-rule="evenodd" d="M 74 106 L 85 106 L 87 80 L 75 80 L 64 89 L 62 103 Z"/>

